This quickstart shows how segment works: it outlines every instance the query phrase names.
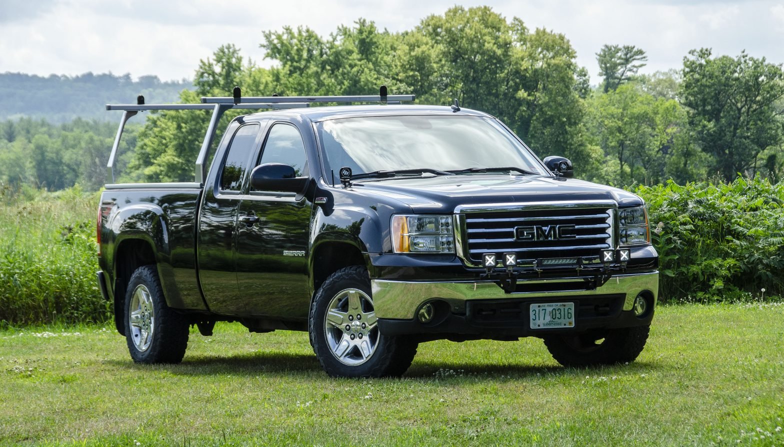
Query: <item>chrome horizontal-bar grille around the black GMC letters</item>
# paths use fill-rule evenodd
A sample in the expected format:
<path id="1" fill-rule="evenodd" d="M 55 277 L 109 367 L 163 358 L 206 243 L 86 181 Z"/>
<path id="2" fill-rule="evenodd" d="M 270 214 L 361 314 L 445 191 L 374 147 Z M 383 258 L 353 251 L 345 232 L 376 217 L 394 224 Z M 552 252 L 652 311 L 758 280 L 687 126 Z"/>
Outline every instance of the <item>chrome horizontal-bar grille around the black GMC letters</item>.
<path id="1" fill-rule="evenodd" d="M 612 248 L 612 207 L 525 209 L 482 209 L 459 214 L 463 234 L 463 257 L 471 264 L 481 264 L 485 253 L 515 253 L 518 265 L 536 259 L 561 258 L 564 261 L 583 258 L 598 262 L 599 251 Z M 557 228 L 568 225 L 575 237 L 546 240 L 521 240 L 517 227 L 526 229 Z M 574 225 L 572 229 L 571 225 Z M 568 262 L 571 264 L 572 262 Z"/>

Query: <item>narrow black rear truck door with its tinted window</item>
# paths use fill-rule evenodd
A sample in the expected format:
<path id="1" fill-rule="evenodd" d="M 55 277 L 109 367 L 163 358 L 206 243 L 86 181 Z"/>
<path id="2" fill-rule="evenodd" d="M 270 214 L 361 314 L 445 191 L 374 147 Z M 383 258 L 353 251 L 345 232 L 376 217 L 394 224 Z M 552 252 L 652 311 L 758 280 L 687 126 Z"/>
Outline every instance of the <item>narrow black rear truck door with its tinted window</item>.
<path id="1" fill-rule="evenodd" d="M 205 186 L 198 232 L 199 280 L 212 312 L 245 313 L 237 287 L 235 251 L 237 213 L 241 188 L 249 174 L 251 157 L 260 145 L 260 124 L 249 123 L 227 129 L 223 141 L 228 149 L 217 151 L 223 160 L 212 163 Z M 228 132 L 234 131 L 234 135 Z M 223 145 L 223 142 L 221 142 Z"/>

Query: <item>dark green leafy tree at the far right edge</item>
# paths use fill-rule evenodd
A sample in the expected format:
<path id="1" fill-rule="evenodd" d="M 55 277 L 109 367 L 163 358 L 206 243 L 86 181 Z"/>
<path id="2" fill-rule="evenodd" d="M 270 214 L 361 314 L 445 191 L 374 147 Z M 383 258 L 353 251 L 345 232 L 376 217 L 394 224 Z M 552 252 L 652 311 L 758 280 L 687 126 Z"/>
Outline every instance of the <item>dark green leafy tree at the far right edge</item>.
<path id="1" fill-rule="evenodd" d="M 714 58 L 710 49 L 691 50 L 684 58 L 681 98 L 700 148 L 713 155 L 712 171 L 724 180 L 756 175 L 760 153 L 784 143 L 780 64 L 746 52 Z"/>

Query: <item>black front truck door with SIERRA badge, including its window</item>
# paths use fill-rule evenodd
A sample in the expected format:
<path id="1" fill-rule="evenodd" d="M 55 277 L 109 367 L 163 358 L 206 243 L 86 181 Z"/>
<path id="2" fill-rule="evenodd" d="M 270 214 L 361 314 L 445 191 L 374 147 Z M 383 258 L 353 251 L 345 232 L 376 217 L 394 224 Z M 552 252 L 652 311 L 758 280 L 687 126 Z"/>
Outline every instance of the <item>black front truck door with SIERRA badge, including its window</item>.
<path id="1" fill-rule="evenodd" d="M 256 164 L 283 163 L 307 176 L 302 135 L 288 123 L 270 127 Z M 249 169 L 252 171 L 252 169 Z M 307 250 L 313 204 L 295 193 L 249 186 L 239 207 L 237 279 L 253 315 L 304 319 L 310 304 Z"/>

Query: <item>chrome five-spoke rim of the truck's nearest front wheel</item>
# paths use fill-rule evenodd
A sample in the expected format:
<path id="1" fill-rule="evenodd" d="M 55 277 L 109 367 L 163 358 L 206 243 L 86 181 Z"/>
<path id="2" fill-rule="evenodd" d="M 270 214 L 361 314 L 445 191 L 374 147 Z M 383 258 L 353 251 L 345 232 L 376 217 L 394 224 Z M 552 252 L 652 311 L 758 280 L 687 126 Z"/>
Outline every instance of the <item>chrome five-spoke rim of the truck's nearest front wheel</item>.
<path id="1" fill-rule="evenodd" d="M 359 289 L 340 290 L 329 301 L 324 318 L 329 351 L 348 366 L 367 362 L 379 345 L 379 328 L 373 301 Z"/>

